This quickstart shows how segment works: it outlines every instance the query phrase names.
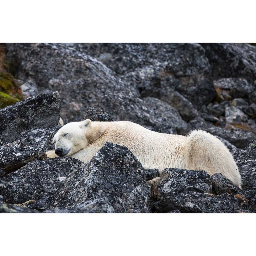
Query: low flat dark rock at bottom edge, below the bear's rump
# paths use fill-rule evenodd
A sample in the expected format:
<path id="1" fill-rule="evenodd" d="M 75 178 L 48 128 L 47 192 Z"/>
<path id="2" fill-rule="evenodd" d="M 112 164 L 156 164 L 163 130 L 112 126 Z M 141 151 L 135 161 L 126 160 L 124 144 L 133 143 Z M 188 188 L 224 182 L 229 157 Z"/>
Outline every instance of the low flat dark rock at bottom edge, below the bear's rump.
<path id="1" fill-rule="evenodd" d="M 182 192 L 155 203 L 157 213 L 180 210 L 181 213 L 233 213 L 234 206 L 226 198 L 215 198 L 199 192 Z"/>

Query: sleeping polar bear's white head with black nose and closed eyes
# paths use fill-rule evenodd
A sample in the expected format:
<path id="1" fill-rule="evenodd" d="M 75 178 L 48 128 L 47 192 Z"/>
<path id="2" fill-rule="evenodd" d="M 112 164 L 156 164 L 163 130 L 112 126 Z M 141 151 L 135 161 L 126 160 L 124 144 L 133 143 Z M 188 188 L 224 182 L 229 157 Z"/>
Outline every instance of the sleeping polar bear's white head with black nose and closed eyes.
<path id="1" fill-rule="evenodd" d="M 91 120 L 65 124 L 53 137 L 55 154 L 70 156 L 89 144 L 86 134 L 91 127 Z"/>

